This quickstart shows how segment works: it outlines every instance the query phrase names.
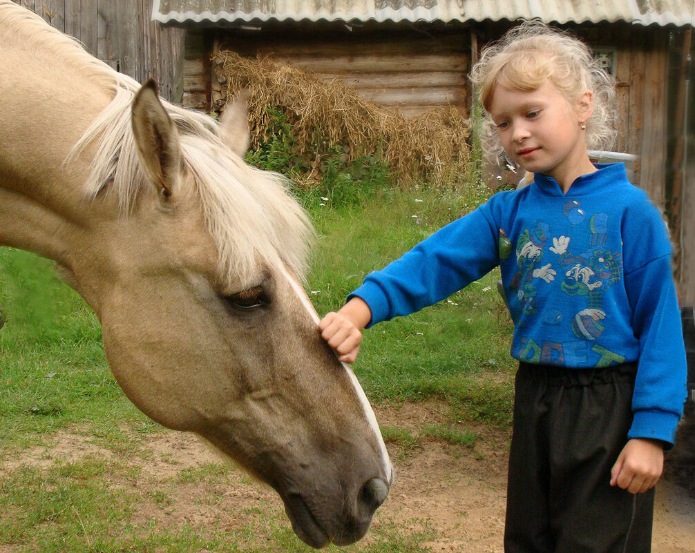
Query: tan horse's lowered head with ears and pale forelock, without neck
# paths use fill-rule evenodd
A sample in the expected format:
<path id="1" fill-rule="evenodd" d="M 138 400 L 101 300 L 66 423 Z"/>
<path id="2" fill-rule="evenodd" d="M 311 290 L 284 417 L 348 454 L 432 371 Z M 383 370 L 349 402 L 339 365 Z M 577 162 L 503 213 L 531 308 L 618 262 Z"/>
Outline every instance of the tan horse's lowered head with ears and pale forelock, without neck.
<path id="1" fill-rule="evenodd" d="M 108 190 L 97 194 L 104 216 L 68 272 L 140 410 L 270 484 L 309 545 L 352 543 L 389 492 L 391 464 L 300 286 L 304 213 L 231 149 L 248 129 L 245 110 L 228 111 L 219 140 L 186 135 L 154 83 L 142 87 L 131 126 L 144 185 L 117 217 L 104 213 Z"/>

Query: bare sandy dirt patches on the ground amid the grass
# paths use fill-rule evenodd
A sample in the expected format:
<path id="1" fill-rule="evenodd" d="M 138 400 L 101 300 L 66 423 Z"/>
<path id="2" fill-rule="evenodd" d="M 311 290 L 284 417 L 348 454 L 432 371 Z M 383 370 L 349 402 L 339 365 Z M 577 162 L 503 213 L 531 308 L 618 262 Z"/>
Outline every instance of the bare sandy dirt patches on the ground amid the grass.
<path id="1" fill-rule="evenodd" d="M 436 403 L 418 403 L 382 406 L 375 411 L 383 427 L 406 428 L 416 433 L 425 424 L 443 422 L 445 408 Z M 491 435 L 486 429 L 474 430 L 480 439 L 472 449 L 425 438 L 407 451 L 398 444 L 388 444 L 396 480 L 389 498 L 375 516 L 374 526 L 383 523 L 380 521 L 393 521 L 416 531 L 432 529 L 430 535 L 434 538 L 422 544 L 432 553 L 502 553 L 507 437 Z M 217 460 L 205 445 L 187 434 L 162 432 L 148 438 L 147 447 L 150 449 L 147 461 L 139 457 L 129 461 L 140 463 L 142 478 L 133 484 L 140 490 L 142 486 L 157 486 L 181 470 Z M 3 466 L 11 468 L 22 463 L 48 466 L 55 459 L 74 460 L 88 454 L 113 455 L 91 443 L 90 438 L 75 433 L 60 436 L 50 449 L 25 452 Z M 242 474 L 235 474 L 231 486 L 226 484 L 218 491 L 221 497 L 214 503 L 202 500 L 202 495 L 210 490 L 201 490 L 195 483 L 176 489 L 175 509 L 163 510 L 154 502 L 143 504 L 138 514 L 142 520 L 132 522 L 144 524 L 156 518 L 163 524 L 188 522 L 208 526 L 222 518 L 223 527 L 239 529 L 259 524 L 258 518 L 262 517 L 256 509 L 259 504 L 281 511 L 275 492 Z M 369 541 L 369 535 L 365 539 Z M 673 479 L 662 480 L 657 488 L 653 552 L 694 551 L 695 497 Z"/>

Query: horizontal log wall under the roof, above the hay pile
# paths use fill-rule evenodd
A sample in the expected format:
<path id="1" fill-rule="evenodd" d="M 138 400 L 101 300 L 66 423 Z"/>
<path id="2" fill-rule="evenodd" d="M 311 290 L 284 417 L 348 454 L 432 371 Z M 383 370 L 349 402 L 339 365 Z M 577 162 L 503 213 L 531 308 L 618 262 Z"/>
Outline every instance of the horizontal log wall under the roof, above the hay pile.
<path id="1" fill-rule="evenodd" d="M 466 35 L 415 30 L 272 34 L 218 33 L 216 47 L 241 56 L 272 56 L 324 81 L 342 79 L 363 97 L 398 108 L 406 115 L 452 104 L 467 112 L 466 74 L 470 66 Z"/>

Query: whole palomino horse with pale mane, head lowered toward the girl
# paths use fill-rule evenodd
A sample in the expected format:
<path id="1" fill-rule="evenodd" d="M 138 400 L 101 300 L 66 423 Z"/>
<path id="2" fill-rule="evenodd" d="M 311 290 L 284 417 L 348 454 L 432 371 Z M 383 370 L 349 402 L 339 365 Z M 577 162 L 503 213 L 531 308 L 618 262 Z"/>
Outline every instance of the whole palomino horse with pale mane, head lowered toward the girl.
<path id="1" fill-rule="evenodd" d="M 0 245 L 56 261 L 138 408 L 275 488 L 309 545 L 352 543 L 391 463 L 298 283 L 306 217 L 228 111 L 163 103 L 0 0 Z"/>

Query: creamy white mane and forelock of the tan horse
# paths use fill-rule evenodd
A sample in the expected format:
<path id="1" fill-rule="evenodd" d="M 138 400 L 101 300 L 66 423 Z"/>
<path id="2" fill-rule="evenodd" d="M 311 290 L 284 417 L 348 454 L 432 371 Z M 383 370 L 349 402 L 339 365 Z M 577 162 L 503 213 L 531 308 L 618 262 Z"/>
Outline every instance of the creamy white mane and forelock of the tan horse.
<path id="1" fill-rule="evenodd" d="M 65 163 L 95 144 L 85 194 L 90 199 L 102 190 L 117 195 L 119 211 L 127 217 L 140 191 L 150 186 L 131 128 L 131 105 L 140 83 L 116 72 L 91 56 L 77 40 L 11 1 L 0 0 L 1 20 L 113 93 L 111 103 L 85 130 Z M 303 279 L 313 229 L 304 210 L 288 193 L 287 180 L 244 163 L 222 142 L 219 124 L 212 117 L 162 103 L 179 129 L 183 163 L 195 177 L 224 281 L 234 286 L 252 285 L 259 258 L 273 266 L 284 264 Z"/>

